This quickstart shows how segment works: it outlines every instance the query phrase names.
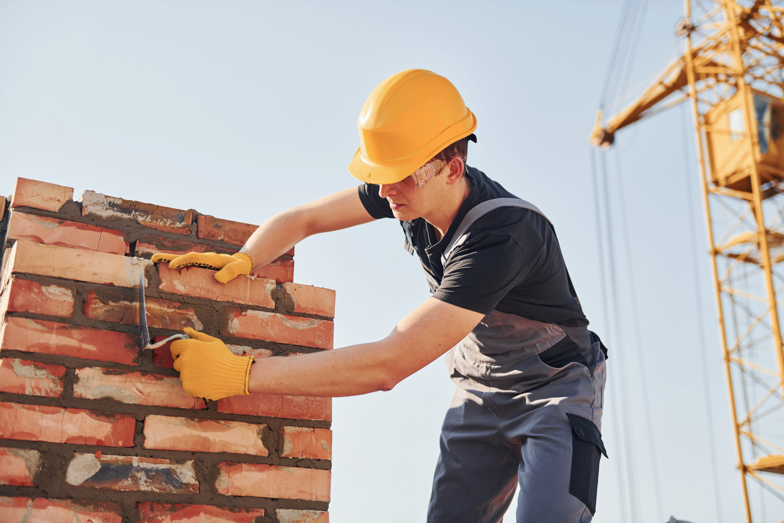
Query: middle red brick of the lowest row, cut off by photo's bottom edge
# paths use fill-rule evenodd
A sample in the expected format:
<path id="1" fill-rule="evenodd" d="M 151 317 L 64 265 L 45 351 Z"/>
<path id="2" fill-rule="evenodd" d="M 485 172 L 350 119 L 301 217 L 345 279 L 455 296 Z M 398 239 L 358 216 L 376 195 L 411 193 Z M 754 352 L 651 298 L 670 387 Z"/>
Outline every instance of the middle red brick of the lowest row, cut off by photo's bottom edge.
<path id="1" fill-rule="evenodd" d="M 145 523 L 254 523 L 264 515 L 263 508 L 150 502 L 137 503 L 136 507 Z"/>

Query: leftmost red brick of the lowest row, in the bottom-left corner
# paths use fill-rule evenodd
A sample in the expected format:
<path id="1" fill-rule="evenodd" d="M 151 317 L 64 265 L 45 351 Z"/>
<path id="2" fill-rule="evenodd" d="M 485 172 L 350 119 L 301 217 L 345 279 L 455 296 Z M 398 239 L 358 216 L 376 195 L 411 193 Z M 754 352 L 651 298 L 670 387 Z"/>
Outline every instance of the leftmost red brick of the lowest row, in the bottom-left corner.
<path id="1" fill-rule="evenodd" d="M 3 523 L 122 523 L 122 508 L 114 501 L 0 497 Z"/>

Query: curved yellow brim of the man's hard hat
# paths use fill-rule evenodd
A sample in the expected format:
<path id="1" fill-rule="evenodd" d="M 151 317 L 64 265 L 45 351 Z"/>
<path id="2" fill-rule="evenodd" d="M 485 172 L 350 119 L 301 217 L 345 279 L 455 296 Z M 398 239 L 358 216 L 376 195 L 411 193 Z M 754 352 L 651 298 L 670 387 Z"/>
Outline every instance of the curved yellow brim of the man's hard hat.
<path id="1" fill-rule="evenodd" d="M 434 147 L 427 147 L 423 153 L 404 158 L 399 163 L 395 162 L 394 165 L 373 162 L 365 154 L 362 154 L 362 148 L 359 147 L 348 165 L 348 172 L 357 180 L 365 183 L 376 185 L 397 183 L 405 177 L 411 176 L 416 169 L 422 167 L 430 158 L 443 151 L 449 144 L 469 136 L 477 129 L 477 117 L 470 110 L 468 110 L 468 114 L 466 114 L 463 122 L 465 122 L 463 125 L 459 125 L 459 122 L 457 125 L 452 125 L 446 129 L 441 136 L 437 136 L 437 140 L 434 140 Z M 462 127 L 463 129 L 459 129 L 459 133 L 455 133 L 456 127 Z"/>

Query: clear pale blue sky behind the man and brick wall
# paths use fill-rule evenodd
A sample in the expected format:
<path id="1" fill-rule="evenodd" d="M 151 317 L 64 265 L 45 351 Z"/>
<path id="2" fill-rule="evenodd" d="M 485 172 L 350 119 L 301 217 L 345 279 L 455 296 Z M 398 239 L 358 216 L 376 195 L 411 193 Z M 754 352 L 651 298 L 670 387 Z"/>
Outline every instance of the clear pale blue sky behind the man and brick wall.
<path id="1" fill-rule="evenodd" d="M 677 109 L 617 140 L 661 520 L 626 314 L 625 264 L 619 281 L 626 338 L 612 339 L 601 314 L 586 136 L 621 3 L 0 2 L 0 194 L 24 176 L 73 186 L 76 194 L 91 189 L 261 223 L 356 184 L 347 172 L 358 147 L 356 120 L 378 82 L 412 67 L 443 74 L 477 114 L 470 165 L 554 222 L 592 328 L 610 348 L 609 370 L 619 372 L 623 363 L 629 372 L 622 394 L 633 411 L 628 430 L 639 521 L 666 521 L 670 514 L 716 521 L 709 430 L 719 449 L 724 521 L 739 521 L 697 216 L 715 411 L 714 427 L 706 426 Z M 675 45 L 681 0 L 650 4 L 632 82 L 662 67 Z M 614 212 L 620 216 L 619 208 Z M 337 347 L 386 336 L 429 296 L 401 245 L 400 227 L 384 220 L 297 246 L 295 280 L 337 291 Z M 453 387 L 439 360 L 391 392 L 336 399 L 332 521 L 424 520 Z M 595 521 L 620 523 L 615 459 L 622 449 L 612 437 L 615 405 L 606 405 L 611 459 L 601 463 Z M 773 507 L 760 521 L 778 521 Z"/>

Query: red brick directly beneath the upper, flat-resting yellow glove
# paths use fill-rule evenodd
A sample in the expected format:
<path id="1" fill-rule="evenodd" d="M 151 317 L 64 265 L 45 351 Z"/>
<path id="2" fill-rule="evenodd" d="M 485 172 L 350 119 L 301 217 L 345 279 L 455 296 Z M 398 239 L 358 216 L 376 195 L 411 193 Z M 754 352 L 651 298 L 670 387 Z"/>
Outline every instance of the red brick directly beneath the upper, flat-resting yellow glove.
<path id="1" fill-rule="evenodd" d="M 222 285 L 215 279 L 215 271 L 199 267 L 170 269 L 169 263 L 158 263 L 158 275 L 162 281 L 158 289 L 163 292 L 256 307 L 275 307 L 275 282 L 265 278 L 238 276 Z"/>

